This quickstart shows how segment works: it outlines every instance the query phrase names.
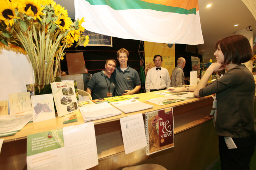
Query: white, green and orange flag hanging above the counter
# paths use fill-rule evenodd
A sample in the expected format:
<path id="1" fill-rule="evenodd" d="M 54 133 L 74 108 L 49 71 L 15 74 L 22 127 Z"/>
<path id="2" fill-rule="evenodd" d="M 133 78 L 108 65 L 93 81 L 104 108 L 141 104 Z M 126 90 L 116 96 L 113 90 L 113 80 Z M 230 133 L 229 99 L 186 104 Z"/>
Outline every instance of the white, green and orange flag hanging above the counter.
<path id="1" fill-rule="evenodd" d="M 108 36 L 203 44 L 198 0 L 74 0 L 82 26 Z"/>

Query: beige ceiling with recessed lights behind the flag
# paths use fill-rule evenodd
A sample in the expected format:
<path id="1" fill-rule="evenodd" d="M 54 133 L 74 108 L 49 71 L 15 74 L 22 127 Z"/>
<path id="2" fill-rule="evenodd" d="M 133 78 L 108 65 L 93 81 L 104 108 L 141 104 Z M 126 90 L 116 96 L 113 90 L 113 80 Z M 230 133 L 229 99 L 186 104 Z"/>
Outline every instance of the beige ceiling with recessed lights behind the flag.
<path id="1" fill-rule="evenodd" d="M 75 18 L 74 1 L 55 1 L 67 9 L 71 19 Z M 246 0 L 246 2 L 251 5 L 250 9 L 256 9 L 256 0 Z M 212 6 L 206 8 L 208 4 Z M 213 53 L 216 50 L 215 43 L 219 39 L 233 35 L 234 32 L 246 29 L 248 26 L 253 29 L 253 40 L 256 37 L 256 20 L 242 0 L 199 0 L 199 13 L 204 44 L 198 45 L 198 54 L 202 55 L 206 62 L 210 59 L 216 61 Z M 235 24 L 238 26 L 234 27 Z M 254 52 L 256 54 L 256 48 Z"/>

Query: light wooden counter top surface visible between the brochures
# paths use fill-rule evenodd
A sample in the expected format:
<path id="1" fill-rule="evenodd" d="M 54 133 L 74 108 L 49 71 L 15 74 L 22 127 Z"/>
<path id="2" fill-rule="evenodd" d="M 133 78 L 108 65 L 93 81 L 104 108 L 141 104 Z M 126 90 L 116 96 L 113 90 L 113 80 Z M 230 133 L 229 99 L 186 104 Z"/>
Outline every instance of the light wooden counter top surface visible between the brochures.
<path id="1" fill-rule="evenodd" d="M 161 91 L 165 91 L 165 90 L 161 90 Z M 153 108 L 146 109 L 146 110 L 140 110 L 140 111 L 136 111 L 136 112 L 132 112 L 132 113 L 123 113 L 122 112 L 120 115 L 93 120 L 94 125 L 111 122 L 111 121 L 116 121 L 116 120 L 119 120 L 120 118 L 128 116 L 128 115 L 133 115 L 133 114 L 137 114 L 137 113 L 145 114 L 146 112 L 149 112 L 149 111 L 163 109 L 166 107 L 177 107 L 177 106 L 197 102 L 200 100 L 204 100 L 206 98 L 211 98 L 211 96 L 197 97 L 197 98 L 183 100 L 183 101 L 179 101 L 179 102 L 175 102 L 175 103 L 171 103 L 171 104 L 167 104 L 167 105 L 163 105 L 163 106 L 146 101 L 151 98 L 163 97 L 163 95 L 155 94 L 155 93 L 161 92 L 161 91 L 133 94 L 134 96 L 140 97 L 137 100 L 147 103 L 147 104 L 154 105 Z M 0 137 L 0 139 L 4 138 L 4 142 L 10 142 L 10 141 L 19 140 L 19 139 L 25 139 L 27 137 L 27 135 L 30 135 L 30 134 L 44 132 L 44 131 L 48 131 L 48 130 L 52 130 L 52 129 L 60 129 L 60 128 L 63 128 L 66 126 L 72 126 L 72 125 L 78 125 L 78 124 L 84 123 L 84 120 L 81 116 L 80 111 L 78 110 L 75 113 L 77 115 L 77 122 L 63 124 L 63 117 L 56 117 L 55 119 L 49 119 L 49 120 L 44 120 L 44 121 L 40 121 L 40 122 L 30 122 L 16 134 L 11 135 L 11 136 Z"/>

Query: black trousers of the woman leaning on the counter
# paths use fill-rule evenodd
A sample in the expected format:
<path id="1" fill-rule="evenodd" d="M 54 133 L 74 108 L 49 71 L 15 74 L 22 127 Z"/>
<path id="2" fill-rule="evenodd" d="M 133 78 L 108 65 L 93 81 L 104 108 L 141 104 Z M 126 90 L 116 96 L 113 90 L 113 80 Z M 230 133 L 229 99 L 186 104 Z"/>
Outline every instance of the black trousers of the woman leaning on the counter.
<path id="1" fill-rule="evenodd" d="M 219 136 L 221 170 L 250 170 L 251 157 L 255 151 L 255 136 L 232 139 L 236 149 L 228 149 L 224 136 Z"/>

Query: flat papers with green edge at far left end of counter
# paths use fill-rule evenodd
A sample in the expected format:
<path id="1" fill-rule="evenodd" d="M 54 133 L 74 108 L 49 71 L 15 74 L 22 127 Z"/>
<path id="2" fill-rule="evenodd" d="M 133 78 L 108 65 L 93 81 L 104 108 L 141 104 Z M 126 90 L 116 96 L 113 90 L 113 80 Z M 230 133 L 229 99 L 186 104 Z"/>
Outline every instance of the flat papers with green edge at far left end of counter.
<path id="1" fill-rule="evenodd" d="M 32 118 L 32 114 L 0 116 L 0 137 L 14 135 Z"/>

